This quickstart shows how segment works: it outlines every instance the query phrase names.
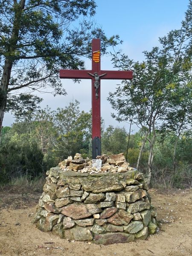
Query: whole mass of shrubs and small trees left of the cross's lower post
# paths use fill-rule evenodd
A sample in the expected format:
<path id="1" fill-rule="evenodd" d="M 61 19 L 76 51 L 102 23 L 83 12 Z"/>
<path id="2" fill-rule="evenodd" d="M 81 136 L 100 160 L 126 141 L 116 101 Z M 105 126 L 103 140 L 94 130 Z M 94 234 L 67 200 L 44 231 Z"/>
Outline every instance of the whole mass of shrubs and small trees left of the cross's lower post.
<path id="1" fill-rule="evenodd" d="M 0 178 L 34 178 L 77 152 L 87 157 L 91 143 L 91 114 L 80 111 L 79 102 L 64 109 L 23 111 L 12 128 L 2 131 Z"/>

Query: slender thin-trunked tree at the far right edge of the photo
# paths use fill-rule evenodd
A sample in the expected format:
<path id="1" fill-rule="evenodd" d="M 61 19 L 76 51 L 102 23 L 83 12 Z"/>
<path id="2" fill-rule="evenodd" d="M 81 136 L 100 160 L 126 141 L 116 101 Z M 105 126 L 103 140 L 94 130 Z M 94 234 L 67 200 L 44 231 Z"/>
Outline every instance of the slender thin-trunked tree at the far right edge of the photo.
<path id="1" fill-rule="evenodd" d="M 175 135 L 173 169 L 176 172 L 176 148 L 180 135 L 192 125 L 192 1 L 180 29 L 160 38 L 162 51 L 170 56 L 172 83 L 167 85 L 168 111 L 162 129 Z"/>

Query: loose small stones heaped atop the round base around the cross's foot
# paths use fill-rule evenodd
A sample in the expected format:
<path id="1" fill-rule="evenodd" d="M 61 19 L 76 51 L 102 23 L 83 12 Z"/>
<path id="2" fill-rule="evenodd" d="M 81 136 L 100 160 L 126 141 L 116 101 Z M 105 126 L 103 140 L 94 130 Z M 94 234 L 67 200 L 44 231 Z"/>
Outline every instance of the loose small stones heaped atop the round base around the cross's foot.
<path id="1" fill-rule="evenodd" d="M 103 154 L 93 160 L 90 160 L 89 158 L 85 160 L 81 157 L 81 154 L 77 153 L 74 159 L 70 156 L 58 165 L 64 172 L 74 171 L 90 174 L 102 172 L 127 172 L 134 169 L 126 162 L 123 153 L 117 155 L 113 154 L 111 156 Z"/>

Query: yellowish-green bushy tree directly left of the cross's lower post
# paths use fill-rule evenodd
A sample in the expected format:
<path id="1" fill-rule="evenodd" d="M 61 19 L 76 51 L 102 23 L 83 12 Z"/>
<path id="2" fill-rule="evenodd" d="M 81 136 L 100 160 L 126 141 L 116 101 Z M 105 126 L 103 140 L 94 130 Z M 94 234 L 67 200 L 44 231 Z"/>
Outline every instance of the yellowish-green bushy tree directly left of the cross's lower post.
<path id="1" fill-rule="evenodd" d="M 70 102 L 67 107 L 52 111 L 52 147 L 61 159 L 74 156 L 81 149 L 89 151 L 91 138 L 91 113 L 80 111 L 79 102 Z"/>

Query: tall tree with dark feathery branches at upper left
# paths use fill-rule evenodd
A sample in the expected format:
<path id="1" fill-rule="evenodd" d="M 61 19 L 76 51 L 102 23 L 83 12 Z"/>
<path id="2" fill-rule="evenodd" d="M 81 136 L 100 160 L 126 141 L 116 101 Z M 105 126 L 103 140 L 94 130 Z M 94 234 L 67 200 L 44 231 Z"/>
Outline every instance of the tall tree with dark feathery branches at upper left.
<path id="1" fill-rule="evenodd" d="M 0 132 L 14 92 L 52 88 L 65 94 L 60 68 L 84 69 L 81 56 L 90 57 L 94 37 L 102 39 L 103 53 L 117 44 L 118 36 L 107 39 L 89 20 L 95 8 L 94 0 L 0 1 Z"/>

